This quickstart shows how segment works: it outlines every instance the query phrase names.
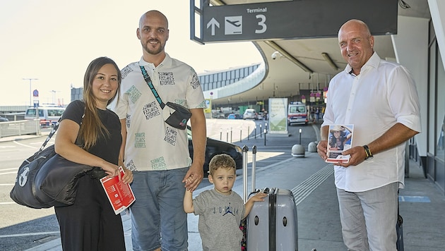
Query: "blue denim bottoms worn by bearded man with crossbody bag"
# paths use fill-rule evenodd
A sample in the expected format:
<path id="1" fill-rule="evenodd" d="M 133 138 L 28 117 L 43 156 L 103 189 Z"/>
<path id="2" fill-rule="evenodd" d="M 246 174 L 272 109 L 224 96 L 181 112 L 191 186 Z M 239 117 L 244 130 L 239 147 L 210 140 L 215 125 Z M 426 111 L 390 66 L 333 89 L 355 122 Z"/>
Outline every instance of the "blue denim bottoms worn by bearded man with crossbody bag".
<path id="1" fill-rule="evenodd" d="M 133 250 L 187 250 L 187 215 L 184 183 L 189 168 L 133 171 L 136 201 L 130 208 Z M 161 238 L 162 237 L 162 238 Z"/>

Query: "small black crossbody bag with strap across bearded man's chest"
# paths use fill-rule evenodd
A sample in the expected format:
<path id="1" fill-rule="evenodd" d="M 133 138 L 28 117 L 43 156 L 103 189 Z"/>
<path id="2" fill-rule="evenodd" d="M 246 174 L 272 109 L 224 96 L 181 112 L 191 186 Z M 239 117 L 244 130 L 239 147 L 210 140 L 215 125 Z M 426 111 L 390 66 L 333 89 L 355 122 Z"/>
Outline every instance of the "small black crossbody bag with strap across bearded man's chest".
<path id="1" fill-rule="evenodd" d="M 189 121 L 189 118 L 191 118 L 190 110 L 186 109 L 184 106 L 180 104 L 175 104 L 172 102 L 167 102 L 167 104 L 165 104 L 164 102 L 162 102 L 162 99 L 159 97 L 158 92 L 155 90 L 155 87 L 151 82 L 150 76 L 148 75 L 146 68 L 143 68 L 143 66 L 139 67 L 141 68 L 143 79 L 146 80 L 148 87 L 150 87 L 150 90 L 151 92 L 153 92 L 153 95 L 155 95 L 156 100 L 158 100 L 158 103 L 162 111 L 164 111 L 162 113 L 162 116 L 164 117 L 165 123 L 171 125 L 174 128 L 185 130 L 187 126 L 187 121 Z"/>

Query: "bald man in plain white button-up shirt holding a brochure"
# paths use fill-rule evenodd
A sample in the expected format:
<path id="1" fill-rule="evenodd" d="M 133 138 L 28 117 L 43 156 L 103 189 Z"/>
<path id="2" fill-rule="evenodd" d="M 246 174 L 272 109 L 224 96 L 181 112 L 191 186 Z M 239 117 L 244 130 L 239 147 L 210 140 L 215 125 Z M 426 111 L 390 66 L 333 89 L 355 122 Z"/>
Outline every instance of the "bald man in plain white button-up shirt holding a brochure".
<path id="1" fill-rule="evenodd" d="M 348 250 L 396 250 L 398 188 L 405 141 L 420 133 L 415 83 L 405 67 L 381 60 L 361 20 L 338 31 L 345 70 L 329 83 L 317 150 L 326 159 L 328 125 L 354 125 L 348 163 L 335 164 L 343 241 Z"/>

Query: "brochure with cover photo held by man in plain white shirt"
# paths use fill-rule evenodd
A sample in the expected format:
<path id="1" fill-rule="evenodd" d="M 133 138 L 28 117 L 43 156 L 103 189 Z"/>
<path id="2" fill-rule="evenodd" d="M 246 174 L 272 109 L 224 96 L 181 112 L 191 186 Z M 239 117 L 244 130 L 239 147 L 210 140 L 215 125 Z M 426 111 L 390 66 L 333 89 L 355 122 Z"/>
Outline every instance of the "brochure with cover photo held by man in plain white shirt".
<path id="1" fill-rule="evenodd" d="M 354 125 L 329 125 L 328 163 L 348 163 L 350 155 L 341 154 L 352 146 Z"/>

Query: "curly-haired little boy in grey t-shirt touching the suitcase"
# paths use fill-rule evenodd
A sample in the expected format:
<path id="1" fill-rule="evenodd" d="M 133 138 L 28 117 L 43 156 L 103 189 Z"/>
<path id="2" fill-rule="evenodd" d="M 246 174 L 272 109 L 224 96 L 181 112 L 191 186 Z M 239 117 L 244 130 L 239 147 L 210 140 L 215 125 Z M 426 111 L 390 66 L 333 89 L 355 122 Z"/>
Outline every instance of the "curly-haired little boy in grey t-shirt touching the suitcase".
<path id="1" fill-rule="evenodd" d="M 198 231 L 203 250 L 241 250 L 242 231 L 239 224 L 266 194 L 257 192 L 246 204 L 232 191 L 236 180 L 235 161 L 227 154 L 218 154 L 210 160 L 208 180 L 214 188 L 201 192 L 195 199 L 192 191 L 184 195 L 184 211 L 199 215 Z M 188 182 L 189 180 L 186 180 Z"/>

